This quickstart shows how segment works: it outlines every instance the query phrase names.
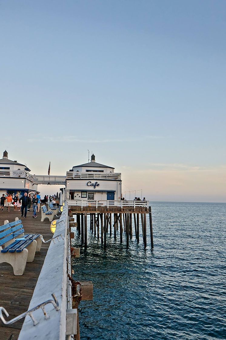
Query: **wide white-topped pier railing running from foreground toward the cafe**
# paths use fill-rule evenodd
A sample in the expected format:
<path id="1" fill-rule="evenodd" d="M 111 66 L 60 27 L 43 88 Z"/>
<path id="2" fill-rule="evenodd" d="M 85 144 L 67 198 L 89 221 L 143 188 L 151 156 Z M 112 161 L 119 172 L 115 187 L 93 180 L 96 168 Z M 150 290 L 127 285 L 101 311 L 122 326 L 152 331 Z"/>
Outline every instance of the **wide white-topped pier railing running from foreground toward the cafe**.
<path id="1" fill-rule="evenodd" d="M 33 313 L 38 322 L 36 326 L 33 325 L 31 318 L 26 316 L 18 340 L 36 338 L 65 340 L 66 336 L 68 339 L 68 335 L 71 334 L 69 333 L 70 330 L 68 332 L 68 325 L 66 324 L 66 315 L 68 310 L 72 308 L 70 303 L 72 299 L 71 289 L 67 275 L 67 260 L 70 256 L 68 242 L 70 242 L 68 237 L 68 204 L 65 202 L 29 305 L 29 309 L 34 308 L 43 301 L 51 299 L 51 294 L 54 293 L 59 303 L 59 310 L 53 308 L 52 305 L 46 305 L 45 311 L 48 317 L 45 320 L 41 308 L 37 309 Z M 75 317 L 77 320 L 77 316 Z M 69 338 L 71 338 L 70 335 Z"/>

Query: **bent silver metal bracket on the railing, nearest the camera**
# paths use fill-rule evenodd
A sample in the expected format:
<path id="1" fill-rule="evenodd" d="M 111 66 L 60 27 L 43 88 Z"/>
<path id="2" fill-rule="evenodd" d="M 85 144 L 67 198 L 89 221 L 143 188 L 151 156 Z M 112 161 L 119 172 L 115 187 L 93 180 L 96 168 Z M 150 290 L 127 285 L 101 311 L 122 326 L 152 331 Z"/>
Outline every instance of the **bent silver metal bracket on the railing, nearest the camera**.
<path id="1" fill-rule="evenodd" d="M 46 314 L 46 311 L 45 311 L 45 308 L 44 308 L 45 305 L 48 305 L 49 303 L 52 303 L 52 305 L 54 306 L 54 308 L 55 308 L 56 310 L 59 310 L 59 309 L 60 309 L 59 303 L 58 303 L 58 301 L 57 301 L 57 298 L 56 298 L 55 294 L 52 293 L 51 295 L 52 295 L 52 297 L 53 297 L 53 300 L 47 300 L 47 301 L 45 301 L 45 302 L 42 302 L 42 303 L 40 303 L 38 306 L 36 306 L 36 307 L 34 307 L 34 308 L 31 308 L 31 309 L 27 310 L 26 312 L 24 312 L 24 313 L 18 315 L 16 318 L 14 318 L 14 319 L 12 319 L 12 320 L 10 320 L 10 321 L 6 321 L 5 318 L 4 318 L 3 315 L 2 315 L 2 312 L 3 312 L 3 313 L 5 314 L 5 316 L 6 316 L 6 318 L 8 318 L 8 317 L 9 317 L 9 313 L 7 312 L 7 310 L 6 310 L 4 307 L 0 307 L 0 319 L 1 319 L 1 321 L 4 323 L 4 325 L 11 325 L 12 323 L 14 323 L 14 322 L 16 322 L 16 321 L 18 321 L 18 320 L 24 318 L 26 315 L 29 315 L 30 318 L 31 318 L 32 321 L 33 321 L 33 326 L 35 326 L 35 325 L 38 324 L 38 322 L 35 320 L 35 318 L 34 318 L 32 312 L 34 312 L 35 310 L 41 308 L 42 311 L 43 311 L 44 317 L 45 317 L 45 319 L 47 320 L 47 319 L 49 319 L 50 317 L 49 317 L 49 315 Z"/>

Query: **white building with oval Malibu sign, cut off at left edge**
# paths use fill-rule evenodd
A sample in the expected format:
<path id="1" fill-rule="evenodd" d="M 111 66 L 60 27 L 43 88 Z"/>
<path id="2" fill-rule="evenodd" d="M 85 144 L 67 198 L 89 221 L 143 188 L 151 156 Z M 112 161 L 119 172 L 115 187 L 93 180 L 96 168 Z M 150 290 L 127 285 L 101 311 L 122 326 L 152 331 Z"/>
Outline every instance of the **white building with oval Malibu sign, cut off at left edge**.
<path id="1" fill-rule="evenodd" d="M 37 191 L 37 184 L 33 182 L 33 176 L 30 169 L 25 165 L 18 163 L 17 160 L 8 159 L 8 153 L 5 150 L 2 159 L 0 159 L 0 195 L 10 193 L 19 197 L 30 191 Z"/>

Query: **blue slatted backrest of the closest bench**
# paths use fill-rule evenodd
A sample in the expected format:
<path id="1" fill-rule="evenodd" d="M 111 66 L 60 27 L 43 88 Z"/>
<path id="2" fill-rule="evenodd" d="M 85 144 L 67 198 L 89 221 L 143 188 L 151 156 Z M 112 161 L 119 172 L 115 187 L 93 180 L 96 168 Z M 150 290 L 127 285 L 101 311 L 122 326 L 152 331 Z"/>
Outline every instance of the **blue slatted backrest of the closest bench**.
<path id="1" fill-rule="evenodd" d="M 21 220 L 7 223 L 0 226 L 0 246 L 14 239 L 16 235 L 24 233 Z"/>

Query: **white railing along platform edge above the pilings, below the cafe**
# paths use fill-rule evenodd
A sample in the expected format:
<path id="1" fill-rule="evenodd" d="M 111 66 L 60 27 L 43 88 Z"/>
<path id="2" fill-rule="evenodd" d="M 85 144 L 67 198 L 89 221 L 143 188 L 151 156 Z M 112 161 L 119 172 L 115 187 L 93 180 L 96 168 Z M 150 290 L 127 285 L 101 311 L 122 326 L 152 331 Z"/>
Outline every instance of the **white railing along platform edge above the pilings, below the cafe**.
<path id="1" fill-rule="evenodd" d="M 149 201 L 99 201 L 99 200 L 69 200 L 69 208 L 71 206 L 83 207 L 149 207 Z"/>

